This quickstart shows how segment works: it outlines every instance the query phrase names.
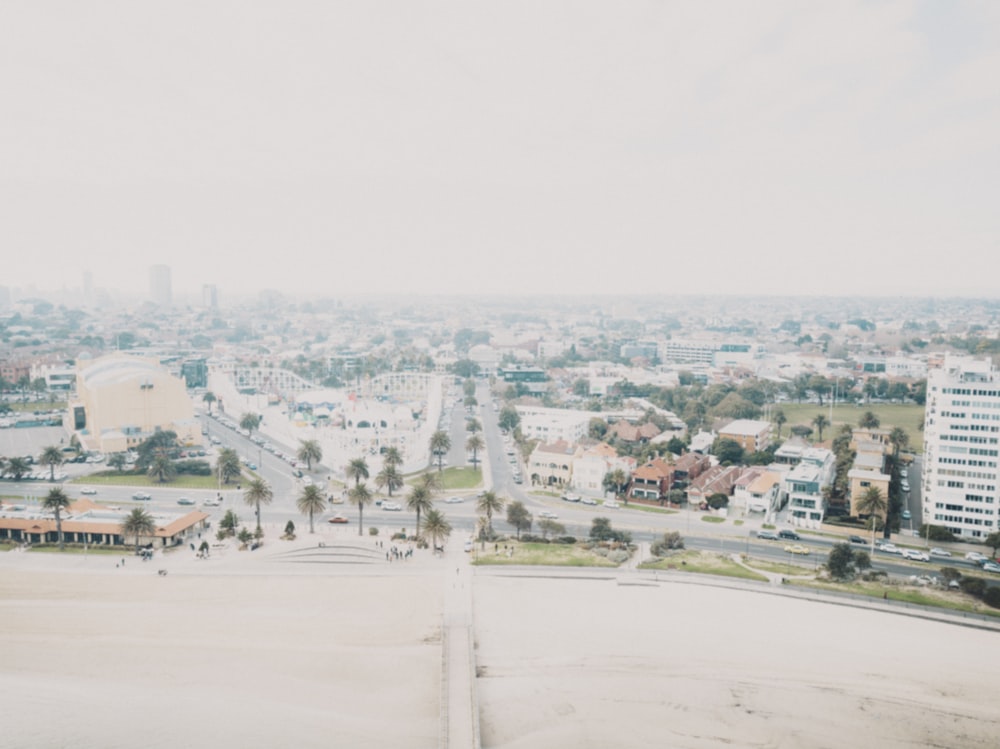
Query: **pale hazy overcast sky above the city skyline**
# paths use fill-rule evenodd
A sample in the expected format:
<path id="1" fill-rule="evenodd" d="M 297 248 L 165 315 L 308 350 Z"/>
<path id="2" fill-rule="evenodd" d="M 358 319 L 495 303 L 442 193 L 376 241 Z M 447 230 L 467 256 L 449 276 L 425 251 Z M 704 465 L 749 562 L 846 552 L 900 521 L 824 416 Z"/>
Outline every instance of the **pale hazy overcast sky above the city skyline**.
<path id="1" fill-rule="evenodd" d="M 0 0 L 0 284 L 990 294 L 1000 2 Z"/>

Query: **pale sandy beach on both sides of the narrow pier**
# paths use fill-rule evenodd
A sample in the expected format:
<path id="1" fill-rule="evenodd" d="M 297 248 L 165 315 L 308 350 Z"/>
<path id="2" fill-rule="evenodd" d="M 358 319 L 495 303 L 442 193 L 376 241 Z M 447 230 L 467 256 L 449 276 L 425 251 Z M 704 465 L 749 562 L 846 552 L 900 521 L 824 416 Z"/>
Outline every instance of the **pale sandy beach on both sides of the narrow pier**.
<path id="1" fill-rule="evenodd" d="M 393 564 L 317 563 L 312 539 L 262 551 L 122 569 L 0 555 L 4 744 L 438 746 L 442 606 L 461 551 Z M 473 573 L 484 747 L 1000 735 L 995 632 L 628 573 L 531 574 Z"/>

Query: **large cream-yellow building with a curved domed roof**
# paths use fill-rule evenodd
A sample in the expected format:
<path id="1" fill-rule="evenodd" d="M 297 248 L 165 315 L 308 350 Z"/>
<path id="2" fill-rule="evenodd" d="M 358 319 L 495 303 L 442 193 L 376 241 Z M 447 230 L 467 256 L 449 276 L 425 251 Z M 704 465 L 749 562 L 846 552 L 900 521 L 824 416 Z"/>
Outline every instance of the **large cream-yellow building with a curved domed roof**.
<path id="1" fill-rule="evenodd" d="M 89 450 L 122 452 L 158 431 L 181 444 L 201 442 L 184 381 L 155 359 L 115 354 L 77 364 L 66 427 Z"/>

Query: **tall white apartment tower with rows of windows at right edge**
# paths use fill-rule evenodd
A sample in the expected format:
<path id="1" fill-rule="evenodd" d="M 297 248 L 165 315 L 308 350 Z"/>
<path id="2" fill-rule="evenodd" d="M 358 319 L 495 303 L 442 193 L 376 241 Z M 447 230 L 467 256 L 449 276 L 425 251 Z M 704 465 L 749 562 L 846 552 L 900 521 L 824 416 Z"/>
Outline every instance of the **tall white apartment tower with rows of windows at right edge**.
<path id="1" fill-rule="evenodd" d="M 956 536 L 997 530 L 1000 372 L 991 362 L 947 356 L 927 373 L 923 518 Z"/>

